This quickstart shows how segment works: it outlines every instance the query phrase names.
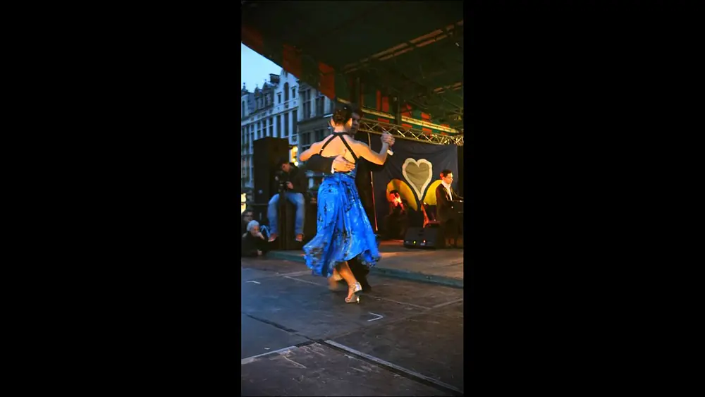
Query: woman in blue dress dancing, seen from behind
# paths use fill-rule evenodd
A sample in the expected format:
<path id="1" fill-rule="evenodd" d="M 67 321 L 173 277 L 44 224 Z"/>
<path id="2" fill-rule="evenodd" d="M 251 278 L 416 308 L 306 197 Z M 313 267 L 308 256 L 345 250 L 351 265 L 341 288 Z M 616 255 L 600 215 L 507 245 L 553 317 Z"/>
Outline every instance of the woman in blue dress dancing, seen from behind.
<path id="1" fill-rule="evenodd" d="M 348 260 L 357 257 L 360 264 L 372 267 L 380 259 L 372 225 L 362 207 L 360 195 L 355 186 L 357 159 L 362 157 L 374 164 L 384 164 L 391 135 L 382 136 L 379 153 L 372 151 L 367 144 L 355 140 L 348 133 L 355 127 L 353 107 L 338 104 L 331 119 L 333 133 L 315 142 L 299 156 L 306 161 L 314 154 L 323 157 L 343 156 L 355 164 L 352 171 L 326 173 L 318 189 L 318 216 L 316 236 L 304 246 L 306 264 L 313 274 L 326 276 L 331 285 L 342 276 L 348 283 L 348 296 L 345 303 L 359 303 L 357 296 L 362 287 L 348 267 Z M 332 170 L 331 170 L 332 172 Z"/>

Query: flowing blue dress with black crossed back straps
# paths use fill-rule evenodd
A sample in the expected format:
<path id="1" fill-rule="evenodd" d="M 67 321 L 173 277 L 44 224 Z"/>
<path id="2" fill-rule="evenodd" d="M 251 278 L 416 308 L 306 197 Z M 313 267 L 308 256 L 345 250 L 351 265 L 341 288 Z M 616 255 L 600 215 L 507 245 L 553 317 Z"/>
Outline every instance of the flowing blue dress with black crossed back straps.
<path id="1" fill-rule="evenodd" d="M 355 158 L 355 169 L 325 174 L 318 188 L 316 236 L 304 245 L 306 265 L 317 276 L 330 277 L 336 264 L 355 257 L 367 267 L 374 266 L 380 259 L 372 225 L 355 186 L 359 161 L 347 142 L 345 146 Z"/>

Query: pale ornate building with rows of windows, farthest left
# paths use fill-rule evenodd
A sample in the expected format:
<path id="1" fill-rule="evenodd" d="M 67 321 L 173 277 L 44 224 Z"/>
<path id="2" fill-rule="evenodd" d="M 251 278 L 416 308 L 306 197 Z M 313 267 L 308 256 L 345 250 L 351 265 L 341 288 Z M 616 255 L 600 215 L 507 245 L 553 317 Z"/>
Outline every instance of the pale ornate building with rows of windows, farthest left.
<path id="1" fill-rule="evenodd" d="M 254 92 L 240 92 L 240 188 L 254 188 L 254 142 L 265 137 L 287 138 L 295 145 L 298 133 L 299 87 L 294 75 L 282 69 L 269 75 Z"/>

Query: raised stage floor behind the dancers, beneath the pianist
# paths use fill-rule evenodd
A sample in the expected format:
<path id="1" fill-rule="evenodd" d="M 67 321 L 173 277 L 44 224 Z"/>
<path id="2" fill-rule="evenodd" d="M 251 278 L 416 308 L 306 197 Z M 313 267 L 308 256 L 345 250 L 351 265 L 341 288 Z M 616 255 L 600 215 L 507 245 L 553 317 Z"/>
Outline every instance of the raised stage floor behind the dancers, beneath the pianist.
<path id="1" fill-rule="evenodd" d="M 401 240 L 382 241 L 382 259 L 373 272 L 403 279 L 427 281 L 448 286 L 463 286 L 463 248 L 422 250 L 404 248 Z M 269 252 L 267 257 L 303 262 L 300 250 Z"/>

